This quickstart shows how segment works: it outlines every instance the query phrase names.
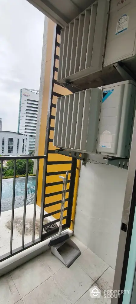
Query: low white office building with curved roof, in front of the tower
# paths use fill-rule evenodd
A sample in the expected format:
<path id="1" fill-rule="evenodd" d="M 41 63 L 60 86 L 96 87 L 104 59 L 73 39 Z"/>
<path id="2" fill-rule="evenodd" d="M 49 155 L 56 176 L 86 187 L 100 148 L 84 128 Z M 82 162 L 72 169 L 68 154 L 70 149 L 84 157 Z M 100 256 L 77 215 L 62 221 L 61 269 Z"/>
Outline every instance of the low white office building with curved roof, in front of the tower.
<path id="1" fill-rule="evenodd" d="M 29 135 L 0 131 L 0 154 L 18 156 L 28 154 Z"/>

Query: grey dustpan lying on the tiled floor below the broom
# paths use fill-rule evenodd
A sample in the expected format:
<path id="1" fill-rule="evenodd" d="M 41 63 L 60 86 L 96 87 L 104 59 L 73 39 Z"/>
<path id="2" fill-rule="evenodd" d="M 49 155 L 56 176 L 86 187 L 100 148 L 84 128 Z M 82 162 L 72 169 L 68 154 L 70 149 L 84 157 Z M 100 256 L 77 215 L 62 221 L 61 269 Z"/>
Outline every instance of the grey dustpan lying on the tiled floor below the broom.
<path id="1" fill-rule="evenodd" d="M 75 262 L 81 254 L 78 246 L 71 240 L 65 240 L 62 243 L 51 246 L 51 252 L 58 257 L 68 268 Z"/>

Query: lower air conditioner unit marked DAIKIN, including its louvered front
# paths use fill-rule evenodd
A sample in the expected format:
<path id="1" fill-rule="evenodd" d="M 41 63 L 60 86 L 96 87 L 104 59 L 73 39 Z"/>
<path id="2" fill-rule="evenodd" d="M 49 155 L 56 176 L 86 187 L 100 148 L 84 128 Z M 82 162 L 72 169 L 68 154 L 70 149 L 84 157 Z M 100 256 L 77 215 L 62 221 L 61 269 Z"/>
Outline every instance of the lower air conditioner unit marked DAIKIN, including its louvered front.
<path id="1" fill-rule="evenodd" d="M 122 81 L 58 98 L 54 145 L 65 150 L 128 158 L 136 83 Z"/>

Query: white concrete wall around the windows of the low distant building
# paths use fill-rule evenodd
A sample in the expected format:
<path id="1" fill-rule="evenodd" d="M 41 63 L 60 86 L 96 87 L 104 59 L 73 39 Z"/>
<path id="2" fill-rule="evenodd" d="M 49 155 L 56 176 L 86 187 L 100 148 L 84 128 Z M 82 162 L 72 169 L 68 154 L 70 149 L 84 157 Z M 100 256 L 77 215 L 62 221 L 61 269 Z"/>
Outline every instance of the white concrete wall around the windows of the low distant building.
<path id="1" fill-rule="evenodd" d="M 2 138 L 4 137 L 4 152 L 2 153 Z M 8 138 L 13 138 L 13 153 L 8 153 Z M 17 153 L 17 142 L 19 138 L 19 147 Z M 24 153 L 22 154 L 22 146 L 24 142 Z M 25 147 L 26 146 L 26 147 Z M 28 154 L 28 146 L 29 146 L 29 135 L 22 135 L 15 132 L 8 131 L 0 131 L 0 154 L 9 155 L 9 156 L 19 156 Z M 25 151 L 26 150 L 26 151 Z"/>

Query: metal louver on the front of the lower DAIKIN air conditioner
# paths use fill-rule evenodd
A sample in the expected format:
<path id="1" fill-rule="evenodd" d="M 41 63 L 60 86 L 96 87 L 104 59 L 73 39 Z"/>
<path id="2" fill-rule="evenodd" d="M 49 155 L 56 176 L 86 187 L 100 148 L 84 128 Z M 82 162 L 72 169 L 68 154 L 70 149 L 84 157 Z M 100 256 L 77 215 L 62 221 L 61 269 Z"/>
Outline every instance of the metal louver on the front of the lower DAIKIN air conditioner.
<path id="1" fill-rule="evenodd" d="M 96 153 L 102 92 L 92 88 L 58 98 L 54 145 Z"/>

